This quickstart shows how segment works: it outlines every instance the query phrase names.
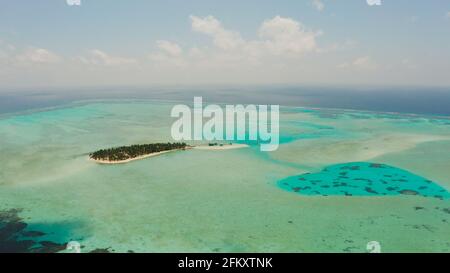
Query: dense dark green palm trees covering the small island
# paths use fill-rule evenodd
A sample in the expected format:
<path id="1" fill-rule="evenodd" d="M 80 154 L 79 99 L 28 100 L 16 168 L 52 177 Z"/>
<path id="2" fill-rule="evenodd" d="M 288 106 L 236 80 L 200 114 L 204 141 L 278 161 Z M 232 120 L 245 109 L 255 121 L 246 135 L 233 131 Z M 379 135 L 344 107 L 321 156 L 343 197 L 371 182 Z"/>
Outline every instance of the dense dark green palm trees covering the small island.
<path id="1" fill-rule="evenodd" d="M 103 149 L 93 152 L 89 156 L 94 160 L 100 161 L 124 161 L 141 156 L 151 155 L 154 153 L 166 152 L 171 150 L 186 149 L 186 143 L 153 143 L 153 144 L 139 144 L 131 146 L 122 146 L 117 148 Z"/>

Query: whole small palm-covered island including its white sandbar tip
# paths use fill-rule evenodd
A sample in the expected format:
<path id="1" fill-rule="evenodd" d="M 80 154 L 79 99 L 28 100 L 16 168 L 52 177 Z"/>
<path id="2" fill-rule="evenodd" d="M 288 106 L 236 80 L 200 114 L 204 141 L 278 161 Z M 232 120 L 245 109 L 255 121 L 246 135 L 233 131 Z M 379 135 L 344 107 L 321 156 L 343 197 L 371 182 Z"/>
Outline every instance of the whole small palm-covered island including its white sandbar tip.
<path id="1" fill-rule="evenodd" d="M 197 150 L 229 150 L 248 147 L 245 144 L 221 144 L 209 143 L 208 145 L 191 146 L 184 142 L 152 143 L 121 146 L 102 149 L 89 154 L 89 158 L 101 164 L 121 164 L 130 161 L 153 157 L 173 151 L 197 149 Z"/>

